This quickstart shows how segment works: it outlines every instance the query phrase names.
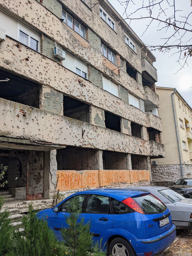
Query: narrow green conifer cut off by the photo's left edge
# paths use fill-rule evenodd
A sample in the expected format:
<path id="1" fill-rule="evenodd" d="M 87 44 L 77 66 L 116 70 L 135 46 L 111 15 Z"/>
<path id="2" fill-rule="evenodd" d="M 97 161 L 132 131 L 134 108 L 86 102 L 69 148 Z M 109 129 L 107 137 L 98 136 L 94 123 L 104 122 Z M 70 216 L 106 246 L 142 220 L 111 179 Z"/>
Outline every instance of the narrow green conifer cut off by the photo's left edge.
<path id="1" fill-rule="evenodd" d="M 0 255 L 10 255 L 13 246 L 13 227 L 7 210 L 1 211 L 3 199 L 0 198 Z"/>

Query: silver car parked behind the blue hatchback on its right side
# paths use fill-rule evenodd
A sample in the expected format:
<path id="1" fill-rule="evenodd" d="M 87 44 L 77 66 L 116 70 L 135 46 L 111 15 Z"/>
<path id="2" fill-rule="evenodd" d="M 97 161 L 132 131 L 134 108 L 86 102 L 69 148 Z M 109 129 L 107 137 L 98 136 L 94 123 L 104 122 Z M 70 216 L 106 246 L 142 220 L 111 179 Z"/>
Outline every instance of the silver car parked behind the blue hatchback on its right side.
<path id="1" fill-rule="evenodd" d="M 135 186 L 126 189 L 150 192 L 169 208 L 177 229 L 192 229 L 192 199 L 185 198 L 166 187 Z"/>

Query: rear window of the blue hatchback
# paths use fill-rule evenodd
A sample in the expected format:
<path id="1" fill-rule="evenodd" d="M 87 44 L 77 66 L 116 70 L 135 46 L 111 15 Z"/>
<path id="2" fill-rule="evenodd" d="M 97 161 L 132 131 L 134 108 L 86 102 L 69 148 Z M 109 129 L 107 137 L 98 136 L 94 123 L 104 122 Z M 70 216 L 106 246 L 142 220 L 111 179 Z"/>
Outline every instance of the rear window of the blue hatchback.
<path id="1" fill-rule="evenodd" d="M 167 206 L 152 195 L 140 196 L 133 198 L 141 207 L 144 214 L 159 214 L 163 213 Z"/>

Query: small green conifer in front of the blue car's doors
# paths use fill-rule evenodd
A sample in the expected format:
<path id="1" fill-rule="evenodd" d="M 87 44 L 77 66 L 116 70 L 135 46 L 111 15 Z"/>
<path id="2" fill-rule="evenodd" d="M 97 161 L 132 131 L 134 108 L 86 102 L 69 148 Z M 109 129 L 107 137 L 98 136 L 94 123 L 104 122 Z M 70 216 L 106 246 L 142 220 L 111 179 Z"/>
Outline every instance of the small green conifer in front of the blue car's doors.
<path id="1" fill-rule="evenodd" d="M 76 199 L 72 200 L 68 208 L 70 216 L 66 219 L 68 228 L 61 229 L 61 235 L 66 242 L 69 256 L 104 256 L 105 253 L 99 249 L 98 244 L 93 246 L 93 236 L 90 233 L 90 221 L 86 224 L 83 218 L 80 221 L 81 207 Z"/>

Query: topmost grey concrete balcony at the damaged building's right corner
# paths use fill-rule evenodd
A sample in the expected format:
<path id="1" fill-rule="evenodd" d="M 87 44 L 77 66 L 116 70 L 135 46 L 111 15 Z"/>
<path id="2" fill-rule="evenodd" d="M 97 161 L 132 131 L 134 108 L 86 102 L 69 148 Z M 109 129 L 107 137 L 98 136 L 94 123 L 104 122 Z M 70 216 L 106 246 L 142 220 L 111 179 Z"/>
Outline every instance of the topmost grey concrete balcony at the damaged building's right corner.
<path id="1" fill-rule="evenodd" d="M 148 81 L 149 83 L 157 82 L 157 70 L 145 58 L 141 59 L 141 69 L 142 75 L 146 81 Z"/>

